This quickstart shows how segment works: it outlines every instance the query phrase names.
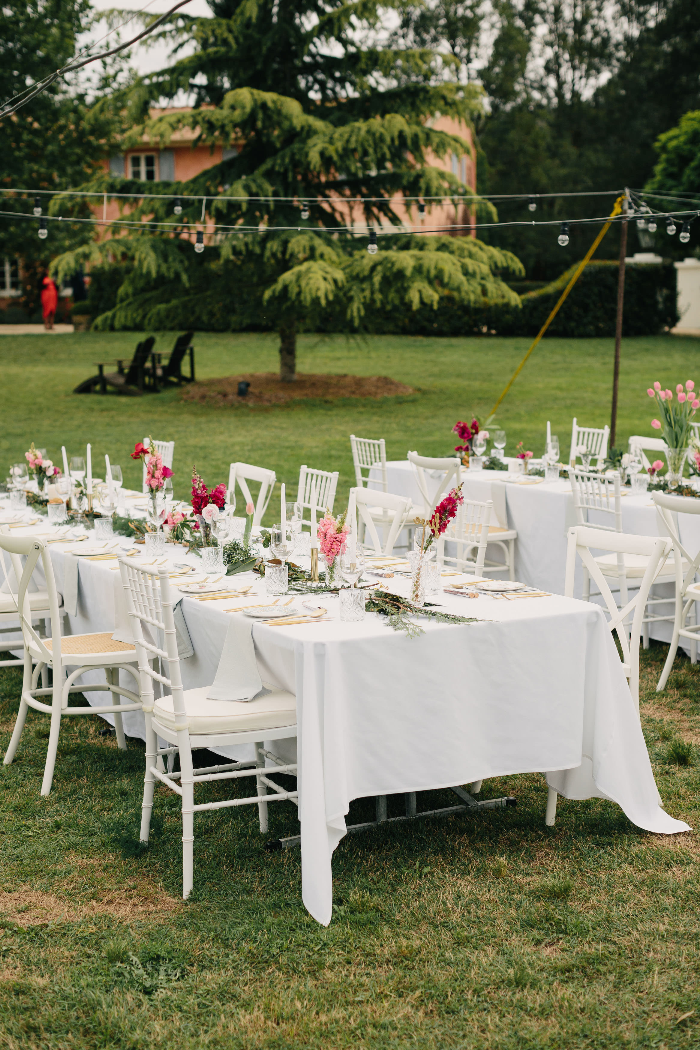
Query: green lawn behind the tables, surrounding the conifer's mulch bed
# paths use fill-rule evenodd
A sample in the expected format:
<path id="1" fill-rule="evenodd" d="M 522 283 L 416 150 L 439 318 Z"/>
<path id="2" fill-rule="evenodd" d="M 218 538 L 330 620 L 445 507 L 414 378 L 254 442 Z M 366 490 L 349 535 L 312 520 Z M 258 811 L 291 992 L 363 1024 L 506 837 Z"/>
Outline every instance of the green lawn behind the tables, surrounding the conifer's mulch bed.
<path id="1" fill-rule="evenodd" d="M 390 459 L 403 459 L 409 448 L 445 455 L 457 441 L 450 433 L 454 421 L 490 412 L 528 346 L 527 339 L 301 337 L 300 372 L 386 375 L 417 392 L 380 401 L 229 410 L 182 403 L 177 391 L 142 398 L 71 393 L 94 374 L 94 361 L 130 357 L 139 337 L 0 334 L 0 462 L 17 462 L 33 440 L 60 462 L 62 444 L 77 455 L 89 440 L 93 462 L 104 463 L 108 452 L 124 468 L 125 484 L 135 486 L 141 464 L 132 464 L 128 453 L 136 440 L 152 434 L 175 440 L 179 496 L 189 491 L 193 462 L 210 484 L 226 481 L 229 464 L 240 459 L 272 467 L 288 486 L 296 485 L 299 464 L 307 463 L 340 471 L 337 506 L 344 506 L 354 479 L 349 434 L 384 437 Z M 156 349 L 169 350 L 173 340 L 173 334 L 162 334 Z M 194 342 L 200 378 L 278 366 L 272 335 L 200 333 Z M 654 413 L 645 391 L 654 379 L 672 388 L 688 376 L 700 380 L 693 372 L 699 349 L 700 339 L 673 336 L 623 341 L 618 445 L 627 446 L 631 434 L 651 433 Z M 574 415 L 587 425 L 609 423 L 612 368 L 610 339 L 545 339 L 499 412 L 508 434 L 507 452 L 523 440 L 540 454 L 548 419 L 563 456 L 569 452 Z"/>

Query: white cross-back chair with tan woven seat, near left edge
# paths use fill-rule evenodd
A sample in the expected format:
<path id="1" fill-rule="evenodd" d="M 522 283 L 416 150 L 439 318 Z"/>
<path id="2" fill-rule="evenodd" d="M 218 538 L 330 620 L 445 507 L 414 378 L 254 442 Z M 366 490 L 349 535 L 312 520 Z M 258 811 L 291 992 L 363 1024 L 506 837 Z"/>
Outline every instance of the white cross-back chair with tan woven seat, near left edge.
<path id="1" fill-rule="evenodd" d="M 61 613 L 59 611 L 59 596 L 56 591 L 56 581 L 48 548 L 36 537 L 15 538 L 0 536 L 0 550 L 12 555 L 13 565 L 19 579 L 18 605 L 20 608 L 20 622 L 22 627 L 23 649 L 24 649 L 24 677 L 22 681 L 22 697 L 20 709 L 15 721 L 15 729 L 5 752 L 4 764 L 9 765 L 15 757 L 17 746 L 19 744 L 26 714 L 29 708 L 51 716 L 51 726 L 48 735 L 48 748 L 46 750 L 46 764 L 44 766 L 44 779 L 41 785 L 41 794 L 48 795 L 54 780 L 54 766 L 56 765 L 56 755 L 59 747 L 59 733 L 61 730 L 61 719 L 77 715 L 111 714 L 114 716 L 114 731 L 119 747 L 125 751 L 126 740 L 124 738 L 124 728 L 122 715 L 127 711 L 137 711 L 141 708 L 141 699 L 137 693 L 125 689 L 120 685 L 120 670 L 128 671 L 134 678 L 136 672 L 136 651 L 132 645 L 124 642 L 114 642 L 110 631 L 98 632 L 94 634 L 68 634 L 61 635 Z M 20 566 L 20 559 L 24 558 L 24 567 Z M 46 593 L 48 595 L 48 616 L 50 621 L 50 635 L 41 637 L 33 626 L 33 615 L 30 611 L 29 594 L 27 586 L 31 579 L 31 573 L 41 560 L 46 580 Z M 33 670 L 33 664 L 36 667 Z M 50 687 L 37 688 L 39 675 L 44 668 L 52 671 L 54 685 Z M 87 707 L 68 707 L 70 693 L 82 693 L 85 686 L 75 685 L 85 671 L 94 671 L 102 668 L 105 672 L 105 684 L 90 682 L 89 692 L 104 691 L 111 693 L 111 705 L 104 707 L 88 705 Z M 126 697 L 129 702 L 122 704 L 120 697 Z M 41 697 L 46 697 L 49 702 L 44 702 Z"/>

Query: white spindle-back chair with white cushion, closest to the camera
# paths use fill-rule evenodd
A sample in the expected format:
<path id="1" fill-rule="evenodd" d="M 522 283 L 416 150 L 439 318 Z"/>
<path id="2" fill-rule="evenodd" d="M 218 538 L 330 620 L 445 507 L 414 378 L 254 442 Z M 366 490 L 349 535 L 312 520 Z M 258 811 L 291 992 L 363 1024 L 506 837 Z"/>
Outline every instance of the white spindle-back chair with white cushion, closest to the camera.
<path id="1" fill-rule="evenodd" d="M 275 687 L 269 687 L 271 692 L 247 702 L 208 700 L 207 693 L 211 686 L 183 689 L 167 567 L 134 566 L 120 559 L 120 569 L 139 654 L 141 698 L 146 718 L 141 841 L 148 842 L 153 793 L 158 781 L 182 800 L 183 897 L 187 899 L 193 881 L 195 813 L 255 804 L 260 831 L 267 832 L 269 802 L 289 799 L 298 804 L 296 791 L 284 791 L 270 779 L 273 773 L 296 776 L 296 764 L 280 761 L 263 746 L 263 740 L 281 740 L 297 735 L 296 698 L 292 693 Z M 155 663 L 161 671 L 151 666 Z M 154 682 L 158 684 L 158 692 L 169 692 L 156 697 Z M 158 737 L 166 741 L 165 748 L 158 746 Z M 246 743 L 254 744 L 254 758 L 195 771 L 193 751 Z M 171 758 L 175 754 L 179 755 L 179 771 L 173 772 Z M 164 758 L 169 759 L 170 772 L 161 769 Z M 266 765 L 268 761 L 272 764 Z M 194 804 L 196 786 L 245 777 L 255 778 L 254 796 Z M 273 794 L 268 794 L 268 788 Z"/>

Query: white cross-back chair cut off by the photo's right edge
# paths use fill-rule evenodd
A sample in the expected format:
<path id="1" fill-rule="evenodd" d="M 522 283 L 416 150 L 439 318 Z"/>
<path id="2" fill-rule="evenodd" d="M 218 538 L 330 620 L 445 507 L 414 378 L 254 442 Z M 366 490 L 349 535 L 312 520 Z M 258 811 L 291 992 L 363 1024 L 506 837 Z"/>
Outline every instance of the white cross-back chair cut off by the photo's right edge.
<path id="1" fill-rule="evenodd" d="M 669 655 L 663 665 L 663 671 L 656 687 L 657 693 L 665 689 L 671 669 L 674 666 L 678 642 L 685 638 L 691 643 L 691 660 L 697 662 L 698 637 L 700 624 L 696 624 L 695 603 L 700 602 L 700 584 L 696 583 L 700 550 L 693 556 L 680 541 L 678 514 L 700 514 L 700 500 L 686 500 L 682 496 L 669 496 L 665 492 L 652 492 L 656 504 L 660 525 L 673 540 L 674 545 L 674 579 L 676 596 L 674 601 L 674 633 L 669 647 Z"/>

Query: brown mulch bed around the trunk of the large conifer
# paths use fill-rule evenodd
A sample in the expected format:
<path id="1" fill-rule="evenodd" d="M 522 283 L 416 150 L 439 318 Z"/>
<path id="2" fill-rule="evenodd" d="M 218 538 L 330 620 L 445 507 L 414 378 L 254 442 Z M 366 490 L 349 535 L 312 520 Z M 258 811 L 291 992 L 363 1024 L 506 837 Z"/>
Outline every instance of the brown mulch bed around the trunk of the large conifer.
<path id="1" fill-rule="evenodd" d="M 248 382 L 246 397 L 238 396 L 238 383 Z M 242 404 L 287 404 L 290 401 L 304 401 L 315 398 L 322 401 L 337 401 L 339 398 L 397 397 L 413 394 L 411 386 L 398 383 L 386 376 L 331 376 L 301 375 L 296 381 L 282 383 L 275 372 L 254 372 L 239 376 L 222 376 L 206 382 L 192 383 L 183 391 L 183 401 L 197 404 L 238 406 Z"/>

